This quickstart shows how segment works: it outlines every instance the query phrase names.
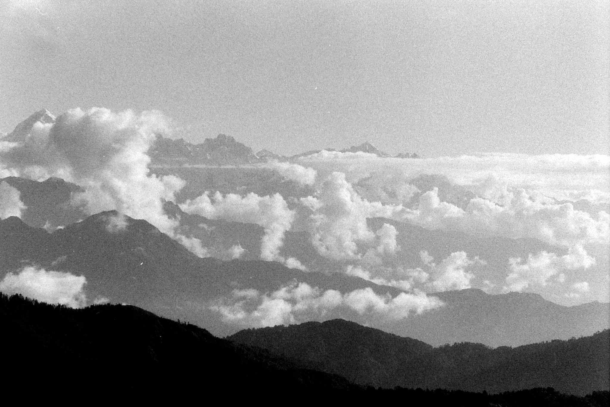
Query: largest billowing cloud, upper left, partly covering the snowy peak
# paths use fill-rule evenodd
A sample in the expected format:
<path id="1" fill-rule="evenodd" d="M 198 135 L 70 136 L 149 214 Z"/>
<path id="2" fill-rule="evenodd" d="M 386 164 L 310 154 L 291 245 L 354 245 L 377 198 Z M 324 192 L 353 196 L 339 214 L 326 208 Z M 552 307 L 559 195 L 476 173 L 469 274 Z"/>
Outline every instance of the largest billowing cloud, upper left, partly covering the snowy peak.
<path id="1" fill-rule="evenodd" d="M 174 201 L 184 181 L 171 175 L 157 177 L 148 170 L 146 152 L 156 133 L 167 131 L 159 112 L 72 109 L 55 123 L 38 121 L 31 131 L 14 135 L 16 144 L 1 159 L 27 178 L 59 176 L 80 185 L 84 192 L 76 194 L 74 203 L 89 214 L 115 209 L 191 242 L 176 233 L 178 220 L 163 211 L 163 202 Z M 196 242 L 190 247 L 196 248 Z"/>

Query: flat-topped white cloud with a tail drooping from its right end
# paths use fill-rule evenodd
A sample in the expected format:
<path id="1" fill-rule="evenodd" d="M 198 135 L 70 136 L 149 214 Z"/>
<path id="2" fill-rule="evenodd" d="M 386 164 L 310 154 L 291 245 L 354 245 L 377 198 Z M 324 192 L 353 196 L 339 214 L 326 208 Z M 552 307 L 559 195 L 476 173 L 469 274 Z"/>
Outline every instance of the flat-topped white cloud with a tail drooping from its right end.
<path id="1" fill-rule="evenodd" d="M 295 212 L 289 209 L 279 193 L 273 196 L 259 196 L 256 193 L 246 196 L 229 193 L 223 196 L 216 192 L 210 198 L 209 192 L 206 192 L 182 203 L 180 207 L 187 214 L 262 226 L 265 234 L 260 246 L 260 258 L 284 261 L 279 250 L 284 242 L 284 232 L 292 226 Z"/>

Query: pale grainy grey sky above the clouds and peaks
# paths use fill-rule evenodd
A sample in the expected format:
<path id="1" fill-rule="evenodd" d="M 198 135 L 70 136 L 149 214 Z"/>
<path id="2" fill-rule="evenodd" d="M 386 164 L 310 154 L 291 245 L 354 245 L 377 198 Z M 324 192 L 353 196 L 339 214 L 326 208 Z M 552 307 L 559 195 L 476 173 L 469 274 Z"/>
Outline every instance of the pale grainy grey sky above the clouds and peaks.
<path id="1" fill-rule="evenodd" d="M 283 154 L 610 153 L 607 1 L 0 1 L 0 130 L 161 110 Z"/>

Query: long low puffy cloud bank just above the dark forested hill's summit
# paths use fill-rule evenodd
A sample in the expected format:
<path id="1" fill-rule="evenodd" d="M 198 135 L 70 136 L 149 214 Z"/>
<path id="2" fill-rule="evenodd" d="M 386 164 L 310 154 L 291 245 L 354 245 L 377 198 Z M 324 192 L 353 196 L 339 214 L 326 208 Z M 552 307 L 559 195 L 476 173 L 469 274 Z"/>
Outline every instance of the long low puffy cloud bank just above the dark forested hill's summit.
<path id="1" fill-rule="evenodd" d="M 262 327 L 303 322 L 324 315 L 339 307 L 361 315 L 376 315 L 388 320 L 401 320 L 409 314 L 442 306 L 442 301 L 422 292 L 392 297 L 378 295 L 372 289 L 357 289 L 341 294 L 337 290 L 322 290 L 307 283 L 292 283 L 271 293 L 258 290 L 234 290 L 231 298 L 220 298 L 210 309 L 219 312 L 227 323 Z"/>

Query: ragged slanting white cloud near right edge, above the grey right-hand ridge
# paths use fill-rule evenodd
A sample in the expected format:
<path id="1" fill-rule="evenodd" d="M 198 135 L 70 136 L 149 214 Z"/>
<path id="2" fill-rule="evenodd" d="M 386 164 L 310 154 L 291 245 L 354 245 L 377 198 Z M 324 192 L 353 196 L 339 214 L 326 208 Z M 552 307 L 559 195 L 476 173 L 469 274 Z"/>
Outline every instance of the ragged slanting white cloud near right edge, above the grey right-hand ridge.
<path id="1" fill-rule="evenodd" d="M 595 264 L 583 247 L 570 248 L 564 256 L 540 251 L 533 256 L 529 254 L 527 261 L 521 258 L 509 259 L 511 272 L 506 277 L 505 291 L 523 291 L 531 285 L 546 286 L 548 279 L 558 275 L 559 270 L 575 270 L 589 268 Z"/>

